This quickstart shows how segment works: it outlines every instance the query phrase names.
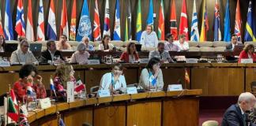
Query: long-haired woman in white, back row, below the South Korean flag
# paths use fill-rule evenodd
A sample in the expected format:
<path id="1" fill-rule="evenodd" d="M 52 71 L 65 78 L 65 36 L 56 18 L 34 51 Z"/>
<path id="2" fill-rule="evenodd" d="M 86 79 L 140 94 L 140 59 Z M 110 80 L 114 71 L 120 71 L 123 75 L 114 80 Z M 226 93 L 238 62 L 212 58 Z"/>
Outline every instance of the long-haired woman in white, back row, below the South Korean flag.
<path id="1" fill-rule="evenodd" d="M 114 45 L 109 43 L 110 40 L 111 40 L 110 35 L 104 35 L 104 37 L 99 45 L 99 50 L 104 50 L 104 51 L 113 50 Z"/>

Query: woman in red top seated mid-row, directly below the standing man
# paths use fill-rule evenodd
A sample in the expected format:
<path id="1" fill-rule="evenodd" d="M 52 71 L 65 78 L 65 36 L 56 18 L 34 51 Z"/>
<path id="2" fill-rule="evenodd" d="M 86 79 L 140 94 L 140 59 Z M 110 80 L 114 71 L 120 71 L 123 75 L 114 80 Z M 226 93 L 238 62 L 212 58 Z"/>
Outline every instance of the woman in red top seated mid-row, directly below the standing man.
<path id="1" fill-rule="evenodd" d="M 138 61 L 139 57 L 137 55 L 135 43 L 129 43 L 126 47 L 126 52 L 123 52 L 120 61 L 125 61 L 126 63 Z"/>

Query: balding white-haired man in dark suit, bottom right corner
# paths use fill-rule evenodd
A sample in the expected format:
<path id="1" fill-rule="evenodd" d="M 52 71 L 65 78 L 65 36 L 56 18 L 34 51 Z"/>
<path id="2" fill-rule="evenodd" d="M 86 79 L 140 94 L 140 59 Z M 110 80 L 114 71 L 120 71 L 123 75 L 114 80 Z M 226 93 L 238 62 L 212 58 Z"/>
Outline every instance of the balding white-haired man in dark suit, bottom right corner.
<path id="1" fill-rule="evenodd" d="M 247 126 L 248 114 L 254 108 L 256 98 L 250 92 L 239 95 L 238 103 L 230 106 L 224 113 L 221 126 Z"/>

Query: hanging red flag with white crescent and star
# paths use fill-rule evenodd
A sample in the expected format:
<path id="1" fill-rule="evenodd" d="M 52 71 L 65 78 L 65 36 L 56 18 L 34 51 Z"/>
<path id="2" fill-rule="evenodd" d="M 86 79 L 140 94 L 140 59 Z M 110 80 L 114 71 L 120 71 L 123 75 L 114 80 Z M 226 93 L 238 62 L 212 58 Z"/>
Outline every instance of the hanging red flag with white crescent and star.
<path id="1" fill-rule="evenodd" d="M 186 35 L 186 41 L 189 39 L 186 17 L 186 0 L 183 0 L 182 12 L 179 21 L 179 35 Z"/>

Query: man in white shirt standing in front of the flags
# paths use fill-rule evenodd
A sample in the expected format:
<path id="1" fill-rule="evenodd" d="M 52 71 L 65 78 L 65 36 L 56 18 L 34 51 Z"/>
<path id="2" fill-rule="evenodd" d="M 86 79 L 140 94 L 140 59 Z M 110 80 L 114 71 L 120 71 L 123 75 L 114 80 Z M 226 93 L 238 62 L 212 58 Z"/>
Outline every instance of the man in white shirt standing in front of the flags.
<path id="1" fill-rule="evenodd" d="M 156 47 L 158 39 L 156 32 L 152 31 L 152 25 L 148 25 L 146 30 L 142 32 L 141 41 L 142 47 Z"/>

